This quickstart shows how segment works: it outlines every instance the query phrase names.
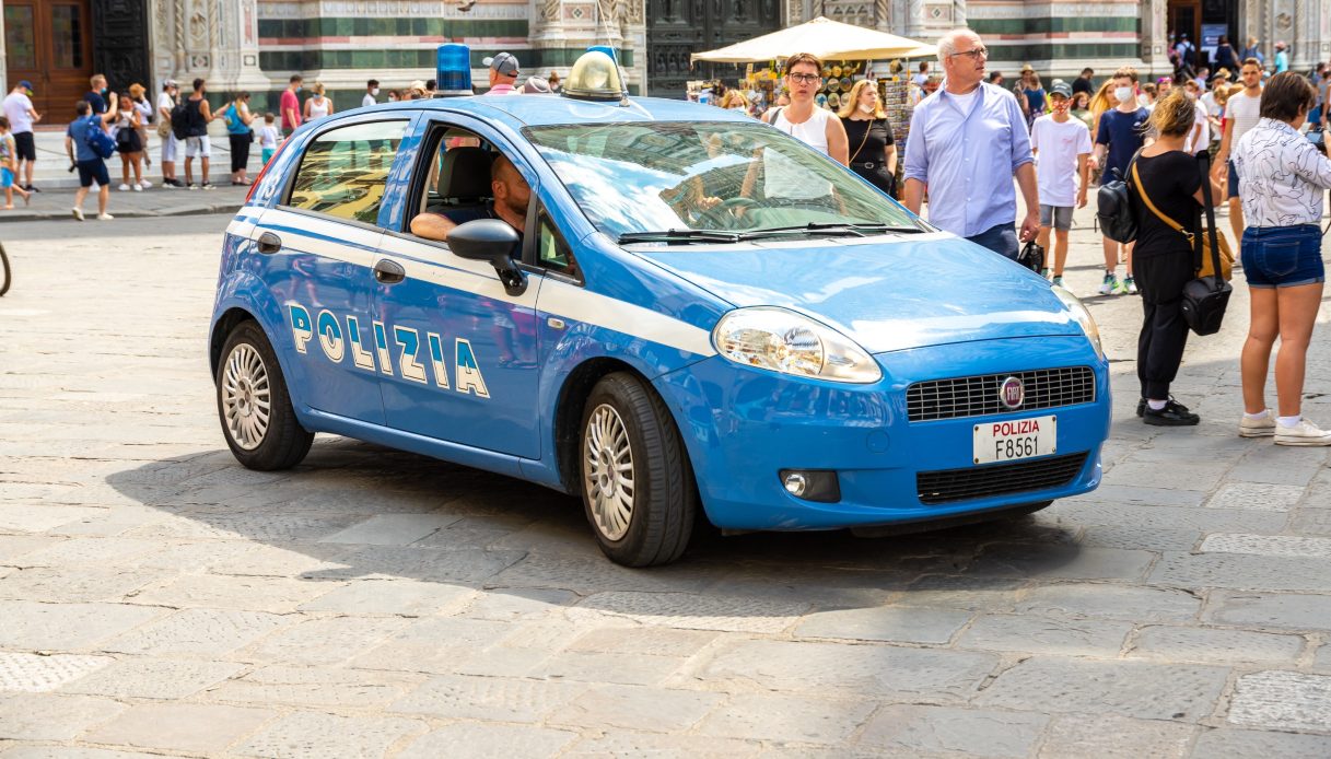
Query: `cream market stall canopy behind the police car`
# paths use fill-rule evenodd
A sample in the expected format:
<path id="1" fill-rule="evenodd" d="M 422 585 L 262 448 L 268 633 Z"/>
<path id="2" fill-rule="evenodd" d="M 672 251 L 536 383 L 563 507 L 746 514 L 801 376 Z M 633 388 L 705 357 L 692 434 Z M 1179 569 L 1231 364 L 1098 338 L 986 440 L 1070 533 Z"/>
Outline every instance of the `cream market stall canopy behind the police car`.
<path id="1" fill-rule="evenodd" d="M 819 16 L 799 27 L 688 57 L 689 61 L 756 63 L 813 53 L 823 60 L 892 60 L 933 56 L 937 51 L 937 45 Z"/>

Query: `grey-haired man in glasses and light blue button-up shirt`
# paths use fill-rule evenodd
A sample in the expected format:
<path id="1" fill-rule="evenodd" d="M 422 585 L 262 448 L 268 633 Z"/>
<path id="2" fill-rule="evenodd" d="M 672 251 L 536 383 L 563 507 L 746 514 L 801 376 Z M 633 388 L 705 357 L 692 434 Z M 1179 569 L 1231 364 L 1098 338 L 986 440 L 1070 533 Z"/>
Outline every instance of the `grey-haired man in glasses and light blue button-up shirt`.
<path id="1" fill-rule="evenodd" d="M 905 205 L 920 213 L 929 190 L 929 222 L 1016 260 L 1017 177 L 1026 202 L 1021 241 L 1040 232 L 1040 198 L 1030 136 L 1008 92 L 982 84 L 989 51 L 970 29 L 938 40 L 946 80 L 916 107 L 906 138 Z"/>

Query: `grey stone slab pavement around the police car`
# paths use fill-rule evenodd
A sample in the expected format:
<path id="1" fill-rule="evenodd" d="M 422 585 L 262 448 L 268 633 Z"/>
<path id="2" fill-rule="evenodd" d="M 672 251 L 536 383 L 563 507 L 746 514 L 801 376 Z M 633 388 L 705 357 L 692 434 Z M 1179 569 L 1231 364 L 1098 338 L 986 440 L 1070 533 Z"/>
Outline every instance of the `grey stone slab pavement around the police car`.
<path id="1" fill-rule="evenodd" d="M 205 358 L 225 222 L 0 230 L 3 759 L 1331 755 L 1328 451 L 1235 437 L 1243 286 L 1189 348 L 1195 429 L 1133 415 L 1139 305 L 1089 298 L 1115 410 L 1087 497 L 635 571 L 512 479 L 323 435 L 237 466 Z M 1081 293 L 1098 250 L 1074 232 Z"/>

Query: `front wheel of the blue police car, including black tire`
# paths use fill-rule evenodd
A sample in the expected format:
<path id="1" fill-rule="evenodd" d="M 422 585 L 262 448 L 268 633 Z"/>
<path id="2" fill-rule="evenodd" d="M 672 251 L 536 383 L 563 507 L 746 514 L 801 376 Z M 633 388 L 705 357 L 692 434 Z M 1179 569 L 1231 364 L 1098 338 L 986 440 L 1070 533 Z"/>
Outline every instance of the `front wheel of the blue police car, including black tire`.
<path id="1" fill-rule="evenodd" d="M 624 433 L 623 439 L 615 435 L 612 439 L 619 442 L 607 443 L 606 435 L 598 434 L 612 429 L 616 419 Z M 583 509 L 600 550 L 615 563 L 631 567 L 677 559 L 688 547 L 693 531 L 697 487 L 684 442 L 666 403 L 636 376 L 627 372 L 607 374 L 587 397 L 579 429 Z M 627 482 L 607 471 L 612 463 L 616 465 L 612 467 L 615 473 L 623 469 L 618 454 L 624 445 L 628 451 Z M 600 463 L 592 463 L 588 455 L 592 450 L 599 451 Z M 607 503 L 606 497 L 626 491 L 631 495 L 627 526 L 622 511 L 608 514 L 610 509 L 599 509 Z"/>

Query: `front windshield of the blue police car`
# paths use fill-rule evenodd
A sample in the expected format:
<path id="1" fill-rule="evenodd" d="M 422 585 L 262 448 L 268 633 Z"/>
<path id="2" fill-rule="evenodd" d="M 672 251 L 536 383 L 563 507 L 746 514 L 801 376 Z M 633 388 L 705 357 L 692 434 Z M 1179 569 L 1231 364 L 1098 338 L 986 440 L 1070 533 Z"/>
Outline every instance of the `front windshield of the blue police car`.
<path id="1" fill-rule="evenodd" d="M 651 233 L 851 225 L 920 230 L 845 166 L 765 124 L 564 124 L 523 130 L 592 224 L 616 240 Z M 697 236 L 689 240 L 711 240 Z"/>

